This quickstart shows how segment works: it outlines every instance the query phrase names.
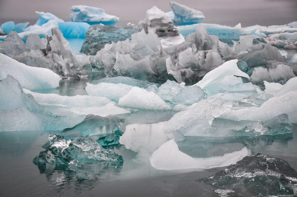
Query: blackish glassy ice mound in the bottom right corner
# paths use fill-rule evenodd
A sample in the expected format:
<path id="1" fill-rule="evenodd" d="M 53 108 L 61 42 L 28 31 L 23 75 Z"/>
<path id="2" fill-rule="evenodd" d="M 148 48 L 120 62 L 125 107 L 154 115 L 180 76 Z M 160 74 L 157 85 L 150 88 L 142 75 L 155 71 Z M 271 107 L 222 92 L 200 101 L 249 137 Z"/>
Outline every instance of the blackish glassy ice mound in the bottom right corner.
<path id="1" fill-rule="evenodd" d="M 232 189 L 235 196 L 293 196 L 296 195 L 297 172 L 287 161 L 257 154 L 196 181 L 216 189 Z"/>

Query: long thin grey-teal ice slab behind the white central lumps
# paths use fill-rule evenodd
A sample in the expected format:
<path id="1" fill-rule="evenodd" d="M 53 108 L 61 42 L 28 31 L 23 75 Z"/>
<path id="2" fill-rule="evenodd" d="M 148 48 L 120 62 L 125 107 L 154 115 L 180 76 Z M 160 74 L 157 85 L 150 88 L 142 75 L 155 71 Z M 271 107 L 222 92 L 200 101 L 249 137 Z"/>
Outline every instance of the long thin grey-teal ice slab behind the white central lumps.
<path id="1" fill-rule="evenodd" d="M 118 76 L 118 77 L 105 77 L 99 80 L 95 80 L 92 81 L 91 84 L 99 84 L 99 83 L 114 83 L 114 84 L 126 84 L 126 85 L 132 85 L 135 87 L 139 87 L 139 88 L 148 88 L 151 85 L 157 85 L 155 83 L 149 82 L 147 80 L 137 80 L 137 79 L 133 79 L 131 77 L 122 77 L 122 76 Z"/>

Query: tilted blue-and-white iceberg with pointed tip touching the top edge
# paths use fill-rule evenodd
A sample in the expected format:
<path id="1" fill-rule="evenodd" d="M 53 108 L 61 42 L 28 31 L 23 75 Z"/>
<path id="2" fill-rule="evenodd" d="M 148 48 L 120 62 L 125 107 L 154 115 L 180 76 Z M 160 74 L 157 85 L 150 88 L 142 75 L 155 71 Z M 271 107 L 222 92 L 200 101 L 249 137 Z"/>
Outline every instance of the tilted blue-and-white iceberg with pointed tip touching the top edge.
<path id="1" fill-rule="evenodd" d="M 173 11 L 167 12 L 166 15 L 177 25 L 200 23 L 205 18 L 203 12 L 174 1 L 170 1 L 170 7 Z"/>

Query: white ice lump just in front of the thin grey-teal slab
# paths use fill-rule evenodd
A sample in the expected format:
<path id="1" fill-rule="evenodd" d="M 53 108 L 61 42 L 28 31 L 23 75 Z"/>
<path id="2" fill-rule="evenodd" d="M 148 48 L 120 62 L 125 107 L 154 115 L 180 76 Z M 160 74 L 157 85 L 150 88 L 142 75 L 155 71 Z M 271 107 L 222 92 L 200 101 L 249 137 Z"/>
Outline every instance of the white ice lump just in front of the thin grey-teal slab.
<path id="1" fill-rule="evenodd" d="M 126 84 L 114 84 L 114 83 L 105 83 L 101 82 L 99 84 L 87 83 L 86 91 L 90 96 L 103 96 L 111 101 L 118 102 L 119 99 L 126 95 L 131 89 L 132 85 Z"/>

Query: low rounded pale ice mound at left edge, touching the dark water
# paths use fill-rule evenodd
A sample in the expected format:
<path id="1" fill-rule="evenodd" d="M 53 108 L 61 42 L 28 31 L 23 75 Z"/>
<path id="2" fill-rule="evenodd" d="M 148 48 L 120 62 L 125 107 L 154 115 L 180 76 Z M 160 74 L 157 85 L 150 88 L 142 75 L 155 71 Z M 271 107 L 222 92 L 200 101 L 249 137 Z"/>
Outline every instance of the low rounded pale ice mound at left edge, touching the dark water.
<path id="1" fill-rule="evenodd" d="M 0 131 L 42 130 L 40 120 L 28 109 L 17 107 L 0 111 Z"/>

